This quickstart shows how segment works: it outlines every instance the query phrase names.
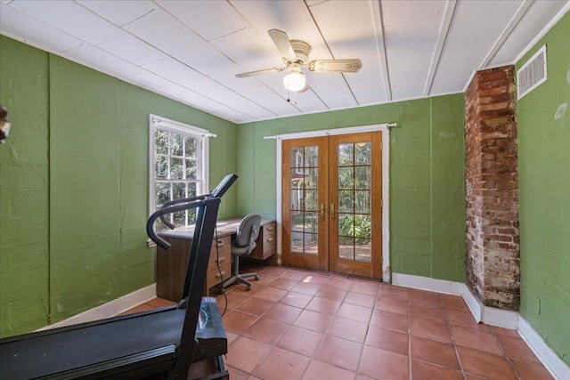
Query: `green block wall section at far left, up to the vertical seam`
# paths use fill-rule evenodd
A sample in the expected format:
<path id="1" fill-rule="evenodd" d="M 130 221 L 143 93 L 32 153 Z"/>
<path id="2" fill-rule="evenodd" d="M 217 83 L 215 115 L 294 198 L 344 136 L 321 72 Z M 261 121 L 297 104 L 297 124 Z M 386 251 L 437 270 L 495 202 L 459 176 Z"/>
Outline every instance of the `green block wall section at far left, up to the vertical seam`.
<path id="1" fill-rule="evenodd" d="M 0 36 L 0 336 L 48 323 L 48 54 Z"/>

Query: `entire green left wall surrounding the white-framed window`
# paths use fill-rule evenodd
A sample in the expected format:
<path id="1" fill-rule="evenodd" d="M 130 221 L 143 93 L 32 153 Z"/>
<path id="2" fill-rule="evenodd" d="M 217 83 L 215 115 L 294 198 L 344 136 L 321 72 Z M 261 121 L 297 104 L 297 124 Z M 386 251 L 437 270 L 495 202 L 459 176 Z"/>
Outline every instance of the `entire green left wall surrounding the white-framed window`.
<path id="1" fill-rule="evenodd" d="M 206 128 L 210 185 L 236 171 L 236 125 L 0 36 L 0 336 L 155 281 L 146 246 L 149 114 Z M 220 217 L 237 214 L 237 190 Z"/>

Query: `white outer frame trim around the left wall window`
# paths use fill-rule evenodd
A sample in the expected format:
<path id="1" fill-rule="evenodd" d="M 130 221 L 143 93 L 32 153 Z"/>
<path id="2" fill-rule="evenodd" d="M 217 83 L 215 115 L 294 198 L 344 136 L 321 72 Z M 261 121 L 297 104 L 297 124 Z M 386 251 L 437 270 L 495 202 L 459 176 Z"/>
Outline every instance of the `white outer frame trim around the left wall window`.
<path id="1" fill-rule="evenodd" d="M 198 181 L 196 192 L 197 195 L 207 194 L 209 191 L 209 139 L 208 137 L 216 137 L 216 134 L 210 133 L 206 129 L 199 128 L 194 125 L 187 125 L 179 121 L 171 120 L 166 117 L 149 115 L 149 215 L 156 211 L 156 186 L 155 186 L 155 131 L 168 131 L 183 134 L 185 136 L 198 139 L 197 159 L 199 161 L 197 167 Z"/>

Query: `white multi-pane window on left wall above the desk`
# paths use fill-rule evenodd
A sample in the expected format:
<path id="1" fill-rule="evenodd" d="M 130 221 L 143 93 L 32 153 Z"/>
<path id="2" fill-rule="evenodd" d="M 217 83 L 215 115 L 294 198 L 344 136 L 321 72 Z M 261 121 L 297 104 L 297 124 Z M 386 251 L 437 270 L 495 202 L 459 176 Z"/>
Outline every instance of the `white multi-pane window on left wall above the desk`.
<path id="1" fill-rule="evenodd" d="M 150 211 L 170 200 L 193 197 L 208 191 L 208 131 L 164 117 L 151 115 Z M 176 227 L 196 221 L 195 210 L 167 214 Z M 160 228 L 160 223 L 157 225 Z"/>

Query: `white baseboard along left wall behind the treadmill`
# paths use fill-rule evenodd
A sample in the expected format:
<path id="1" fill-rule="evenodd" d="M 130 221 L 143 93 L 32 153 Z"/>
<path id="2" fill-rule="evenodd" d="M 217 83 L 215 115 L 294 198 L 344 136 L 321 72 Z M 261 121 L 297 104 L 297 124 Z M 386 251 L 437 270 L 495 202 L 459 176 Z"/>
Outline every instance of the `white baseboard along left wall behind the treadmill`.
<path id="1" fill-rule="evenodd" d="M 55 327 L 64 327 L 70 325 L 77 325 L 78 323 L 91 322 L 92 320 L 105 319 L 114 317 L 122 312 L 132 309 L 142 303 L 145 303 L 157 295 L 157 284 L 149 285 L 135 290 L 133 293 L 118 297 L 116 300 L 102 305 L 96 306 L 93 309 L 83 311 L 68 319 L 63 319 L 50 326 L 39 328 L 37 331 L 47 330 Z"/>

